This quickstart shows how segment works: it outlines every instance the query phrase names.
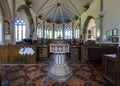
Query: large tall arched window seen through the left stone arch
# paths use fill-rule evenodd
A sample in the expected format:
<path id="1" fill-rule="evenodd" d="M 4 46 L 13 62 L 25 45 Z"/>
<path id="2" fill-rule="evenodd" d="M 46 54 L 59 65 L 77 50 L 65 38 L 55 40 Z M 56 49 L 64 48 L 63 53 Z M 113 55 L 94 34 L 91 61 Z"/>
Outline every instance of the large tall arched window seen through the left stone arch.
<path id="1" fill-rule="evenodd" d="M 15 40 L 16 41 L 22 41 L 22 39 L 25 39 L 26 35 L 26 24 L 24 20 L 17 19 L 15 20 Z"/>

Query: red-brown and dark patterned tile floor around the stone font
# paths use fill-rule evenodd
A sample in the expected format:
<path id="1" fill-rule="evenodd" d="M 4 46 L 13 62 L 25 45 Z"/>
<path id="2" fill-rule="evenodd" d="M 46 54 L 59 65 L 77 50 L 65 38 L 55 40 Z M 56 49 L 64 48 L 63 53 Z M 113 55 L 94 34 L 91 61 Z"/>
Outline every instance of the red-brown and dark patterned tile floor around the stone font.
<path id="1" fill-rule="evenodd" d="M 2 64 L 2 86 L 112 86 L 100 70 L 90 64 L 69 62 L 72 77 L 56 82 L 48 77 L 51 62 L 38 64 Z"/>

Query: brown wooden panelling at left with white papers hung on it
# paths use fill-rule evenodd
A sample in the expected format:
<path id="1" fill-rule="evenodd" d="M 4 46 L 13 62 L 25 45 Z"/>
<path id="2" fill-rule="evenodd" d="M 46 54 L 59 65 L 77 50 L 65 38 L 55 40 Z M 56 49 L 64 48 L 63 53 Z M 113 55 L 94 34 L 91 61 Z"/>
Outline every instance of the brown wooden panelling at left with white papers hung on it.
<path id="1" fill-rule="evenodd" d="M 32 48 L 34 51 L 33 55 L 20 55 L 19 51 L 21 48 Z M 36 63 L 36 46 L 33 45 L 9 45 L 0 46 L 0 58 L 2 64 L 8 63 Z"/>

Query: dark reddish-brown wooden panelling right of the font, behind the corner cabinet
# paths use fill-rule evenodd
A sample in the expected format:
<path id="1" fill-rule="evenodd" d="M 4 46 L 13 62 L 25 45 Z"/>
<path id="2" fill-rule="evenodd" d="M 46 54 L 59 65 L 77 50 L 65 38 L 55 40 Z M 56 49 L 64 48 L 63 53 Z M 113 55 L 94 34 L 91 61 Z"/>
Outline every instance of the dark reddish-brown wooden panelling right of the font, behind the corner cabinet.
<path id="1" fill-rule="evenodd" d="M 114 54 L 117 52 L 117 46 L 86 46 L 81 45 L 81 62 L 98 61 L 102 62 L 103 54 Z"/>

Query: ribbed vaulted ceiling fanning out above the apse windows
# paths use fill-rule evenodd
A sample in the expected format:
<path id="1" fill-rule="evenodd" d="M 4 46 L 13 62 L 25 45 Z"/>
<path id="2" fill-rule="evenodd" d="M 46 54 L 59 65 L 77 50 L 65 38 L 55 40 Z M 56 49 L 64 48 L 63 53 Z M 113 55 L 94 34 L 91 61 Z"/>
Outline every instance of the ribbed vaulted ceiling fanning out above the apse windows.
<path id="1" fill-rule="evenodd" d="M 84 5 L 93 0 L 26 0 L 31 1 L 36 15 L 50 23 L 68 23 L 77 20 L 84 12 Z"/>

